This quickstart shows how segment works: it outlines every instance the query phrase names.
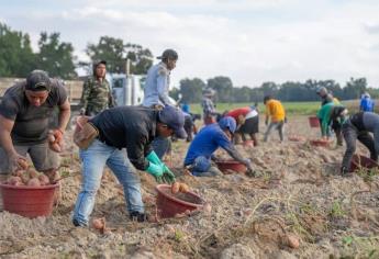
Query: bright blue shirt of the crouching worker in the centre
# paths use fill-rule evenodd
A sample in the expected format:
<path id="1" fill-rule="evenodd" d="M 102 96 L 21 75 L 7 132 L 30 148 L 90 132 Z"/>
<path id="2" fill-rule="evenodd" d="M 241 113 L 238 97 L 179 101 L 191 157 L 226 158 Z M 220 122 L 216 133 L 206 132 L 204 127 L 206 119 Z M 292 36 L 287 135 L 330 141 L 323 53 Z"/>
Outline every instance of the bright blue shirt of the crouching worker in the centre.
<path id="1" fill-rule="evenodd" d="M 185 166 L 192 165 L 194 159 L 199 156 L 211 158 L 212 154 L 219 147 L 224 148 L 226 151 L 234 149 L 233 144 L 218 123 L 203 127 L 198 135 L 196 135 L 188 148 Z"/>

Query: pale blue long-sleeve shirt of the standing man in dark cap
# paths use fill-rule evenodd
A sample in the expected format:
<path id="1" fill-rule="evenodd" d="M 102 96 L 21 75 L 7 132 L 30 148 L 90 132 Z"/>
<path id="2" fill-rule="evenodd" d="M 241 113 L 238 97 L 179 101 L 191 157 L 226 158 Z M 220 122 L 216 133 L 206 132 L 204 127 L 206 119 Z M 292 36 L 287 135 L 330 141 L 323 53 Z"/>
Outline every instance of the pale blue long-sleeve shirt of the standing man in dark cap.
<path id="1" fill-rule="evenodd" d="M 159 63 L 151 67 L 147 71 L 146 83 L 144 88 L 144 106 L 154 105 L 176 105 L 169 98 L 170 71 L 165 63 Z"/>

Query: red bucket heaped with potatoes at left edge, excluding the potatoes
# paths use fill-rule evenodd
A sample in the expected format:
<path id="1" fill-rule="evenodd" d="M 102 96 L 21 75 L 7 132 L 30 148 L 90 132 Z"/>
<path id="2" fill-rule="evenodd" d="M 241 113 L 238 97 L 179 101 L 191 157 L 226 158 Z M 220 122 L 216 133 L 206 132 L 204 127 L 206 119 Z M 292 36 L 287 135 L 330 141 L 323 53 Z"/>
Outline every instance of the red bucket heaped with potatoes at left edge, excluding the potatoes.
<path id="1" fill-rule="evenodd" d="M 4 211 L 25 217 L 49 216 L 58 183 L 45 187 L 14 187 L 0 183 Z"/>

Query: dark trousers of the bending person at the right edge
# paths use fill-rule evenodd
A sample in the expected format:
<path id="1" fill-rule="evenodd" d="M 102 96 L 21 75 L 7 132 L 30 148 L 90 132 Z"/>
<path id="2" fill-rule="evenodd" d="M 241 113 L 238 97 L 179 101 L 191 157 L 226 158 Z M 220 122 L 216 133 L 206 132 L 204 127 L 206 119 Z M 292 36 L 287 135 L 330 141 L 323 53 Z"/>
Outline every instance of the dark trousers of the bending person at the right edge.
<path id="1" fill-rule="evenodd" d="M 375 149 L 375 142 L 368 132 L 359 132 L 349 121 L 342 126 L 342 132 L 346 142 L 346 151 L 342 166 L 350 170 L 350 162 L 356 150 L 356 140 L 358 139 L 370 150 L 370 158 L 378 160 L 378 154 Z"/>

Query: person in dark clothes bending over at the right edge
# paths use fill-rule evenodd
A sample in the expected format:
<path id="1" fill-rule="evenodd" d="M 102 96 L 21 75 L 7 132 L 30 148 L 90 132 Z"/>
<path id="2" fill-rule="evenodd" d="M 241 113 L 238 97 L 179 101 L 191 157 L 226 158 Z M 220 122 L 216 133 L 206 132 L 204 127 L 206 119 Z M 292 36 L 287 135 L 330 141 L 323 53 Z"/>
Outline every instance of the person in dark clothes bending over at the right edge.
<path id="1" fill-rule="evenodd" d="M 341 167 L 343 174 L 350 171 L 352 158 L 356 150 L 356 139 L 369 149 L 372 160 L 378 161 L 379 154 L 379 115 L 372 112 L 358 112 L 349 119 L 346 117 L 346 115 L 343 116 L 342 125 L 346 143 L 346 151 Z M 374 134 L 374 138 L 370 133 Z"/>

